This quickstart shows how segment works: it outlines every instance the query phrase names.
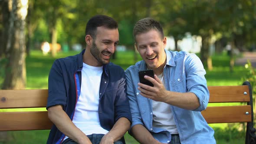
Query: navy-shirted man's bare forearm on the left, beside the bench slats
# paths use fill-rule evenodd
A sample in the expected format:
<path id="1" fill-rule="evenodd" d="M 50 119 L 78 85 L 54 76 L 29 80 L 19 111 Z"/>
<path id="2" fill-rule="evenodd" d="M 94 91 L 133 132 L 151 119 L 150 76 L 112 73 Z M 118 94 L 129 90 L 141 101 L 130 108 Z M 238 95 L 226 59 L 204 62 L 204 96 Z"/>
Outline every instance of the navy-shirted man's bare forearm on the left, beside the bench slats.
<path id="1" fill-rule="evenodd" d="M 75 126 L 61 105 L 48 108 L 48 117 L 66 136 L 78 144 L 92 144 L 89 138 Z"/>

